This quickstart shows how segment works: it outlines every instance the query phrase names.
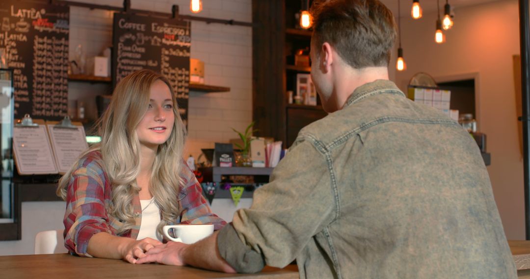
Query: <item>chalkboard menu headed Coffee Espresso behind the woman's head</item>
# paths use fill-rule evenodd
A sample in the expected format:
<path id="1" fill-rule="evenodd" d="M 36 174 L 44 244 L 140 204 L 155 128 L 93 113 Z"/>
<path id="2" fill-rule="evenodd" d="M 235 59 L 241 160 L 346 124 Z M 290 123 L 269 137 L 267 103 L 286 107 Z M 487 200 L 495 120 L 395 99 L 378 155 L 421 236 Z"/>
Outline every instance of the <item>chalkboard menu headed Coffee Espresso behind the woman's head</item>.
<path id="1" fill-rule="evenodd" d="M 190 22 L 116 13 L 112 42 L 114 85 L 141 69 L 161 73 L 173 85 L 180 115 L 186 124 L 190 80 Z"/>

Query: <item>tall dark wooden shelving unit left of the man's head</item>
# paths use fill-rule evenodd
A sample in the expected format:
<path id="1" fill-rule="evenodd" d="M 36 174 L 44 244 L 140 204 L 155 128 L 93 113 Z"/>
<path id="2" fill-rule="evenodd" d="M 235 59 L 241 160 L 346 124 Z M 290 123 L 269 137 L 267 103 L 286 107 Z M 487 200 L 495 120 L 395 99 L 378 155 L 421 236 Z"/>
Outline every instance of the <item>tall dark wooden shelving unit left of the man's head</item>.
<path id="1" fill-rule="evenodd" d="M 296 66 L 294 61 L 295 52 L 308 50 L 313 33 L 295 28 L 295 13 L 300 9 L 300 1 L 252 4 L 254 22 L 261 23 L 252 30 L 252 118 L 257 136 L 274 137 L 284 142 L 284 148 L 301 128 L 327 115 L 322 106 L 287 103 L 287 91 L 296 94 L 296 75 L 311 72 L 311 67 Z"/>

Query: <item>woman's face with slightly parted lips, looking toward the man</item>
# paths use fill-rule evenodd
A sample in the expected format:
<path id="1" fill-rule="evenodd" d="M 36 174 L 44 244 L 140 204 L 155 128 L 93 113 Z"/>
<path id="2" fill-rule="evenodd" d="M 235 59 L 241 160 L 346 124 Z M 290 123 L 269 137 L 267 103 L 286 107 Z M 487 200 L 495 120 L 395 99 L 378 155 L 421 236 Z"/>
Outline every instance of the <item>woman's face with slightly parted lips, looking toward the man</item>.
<path id="1" fill-rule="evenodd" d="M 153 83 L 149 99 L 149 107 L 136 127 L 136 134 L 140 144 L 154 148 L 165 143 L 171 135 L 175 115 L 171 91 L 163 81 L 157 80 Z"/>

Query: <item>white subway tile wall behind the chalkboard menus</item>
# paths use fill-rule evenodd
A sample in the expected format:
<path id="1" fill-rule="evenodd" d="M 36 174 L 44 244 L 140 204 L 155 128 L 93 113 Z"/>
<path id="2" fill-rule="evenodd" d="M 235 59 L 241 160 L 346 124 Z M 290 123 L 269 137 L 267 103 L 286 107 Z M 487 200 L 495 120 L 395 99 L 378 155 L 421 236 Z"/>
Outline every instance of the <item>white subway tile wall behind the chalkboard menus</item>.
<path id="1" fill-rule="evenodd" d="M 76 0 L 121 7 L 122 0 Z M 180 14 L 191 14 L 189 0 L 132 0 L 131 8 L 171 13 L 173 4 Z M 197 16 L 243 22 L 252 21 L 252 0 L 202 0 Z M 86 57 L 100 55 L 112 44 L 112 12 L 70 8 L 70 60 L 78 45 Z M 228 142 L 252 121 L 252 28 L 246 26 L 191 23 L 191 57 L 205 63 L 205 83 L 225 86 L 229 92 L 191 92 L 188 111 L 188 141 L 184 156 L 197 157 L 200 148 L 213 148 L 215 142 Z M 69 83 L 69 104 L 82 100 L 86 117 L 95 119 L 95 96 L 109 94 L 107 85 Z"/>

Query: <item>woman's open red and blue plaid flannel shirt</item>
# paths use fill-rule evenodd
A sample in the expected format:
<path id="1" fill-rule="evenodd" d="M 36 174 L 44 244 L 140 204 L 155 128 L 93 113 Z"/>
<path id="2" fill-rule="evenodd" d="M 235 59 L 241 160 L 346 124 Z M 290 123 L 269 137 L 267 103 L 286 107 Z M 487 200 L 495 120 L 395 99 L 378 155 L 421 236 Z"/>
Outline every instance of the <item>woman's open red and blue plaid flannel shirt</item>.
<path id="1" fill-rule="evenodd" d="M 184 187 L 180 193 L 180 217 L 173 224 L 214 224 L 216 230 L 226 222 L 211 212 L 202 197 L 202 189 L 193 172 L 183 161 L 180 176 Z M 140 198 L 133 199 L 135 226 L 133 229 L 118 235 L 117 230 L 123 222 L 108 215 L 106 208 L 111 202 L 111 182 L 103 168 L 101 153 L 94 151 L 84 156 L 72 173 L 66 196 L 66 212 L 64 217 L 65 246 L 70 254 L 88 256 L 86 249 L 90 238 L 97 233 L 107 232 L 111 235 L 136 239 L 142 223 Z"/>

